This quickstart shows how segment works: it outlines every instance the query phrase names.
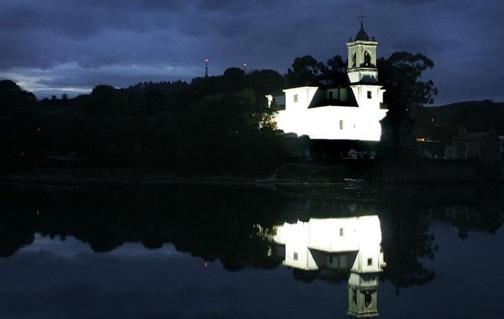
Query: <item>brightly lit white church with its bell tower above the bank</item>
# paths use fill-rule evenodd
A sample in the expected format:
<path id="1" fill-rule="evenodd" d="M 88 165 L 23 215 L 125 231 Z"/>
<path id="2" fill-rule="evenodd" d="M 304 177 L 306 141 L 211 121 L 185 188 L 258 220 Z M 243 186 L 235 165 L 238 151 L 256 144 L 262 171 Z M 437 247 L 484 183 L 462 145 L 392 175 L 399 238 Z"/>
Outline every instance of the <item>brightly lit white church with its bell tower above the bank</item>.
<path id="1" fill-rule="evenodd" d="M 270 94 L 268 105 L 280 107 L 275 120 L 286 133 L 311 139 L 379 141 L 387 110 L 378 81 L 376 49 L 364 27 L 346 43 L 346 76 L 319 75 L 297 88 Z"/>

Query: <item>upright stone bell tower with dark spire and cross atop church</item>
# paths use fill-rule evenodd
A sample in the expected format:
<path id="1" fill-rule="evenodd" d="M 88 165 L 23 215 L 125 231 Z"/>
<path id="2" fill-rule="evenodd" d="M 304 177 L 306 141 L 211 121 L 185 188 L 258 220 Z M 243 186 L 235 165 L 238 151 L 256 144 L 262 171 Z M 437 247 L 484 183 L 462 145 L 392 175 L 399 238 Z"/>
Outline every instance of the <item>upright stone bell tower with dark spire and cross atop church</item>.
<path id="1" fill-rule="evenodd" d="M 364 18 L 364 16 L 360 16 Z M 347 73 L 350 83 L 369 83 L 376 84 L 378 81 L 378 69 L 376 68 L 376 47 L 378 41 L 375 37 L 369 39 L 368 34 L 364 31 L 362 20 L 360 22 L 360 30 L 357 32 L 355 39 L 350 38 L 346 42 L 348 48 L 348 66 Z"/>

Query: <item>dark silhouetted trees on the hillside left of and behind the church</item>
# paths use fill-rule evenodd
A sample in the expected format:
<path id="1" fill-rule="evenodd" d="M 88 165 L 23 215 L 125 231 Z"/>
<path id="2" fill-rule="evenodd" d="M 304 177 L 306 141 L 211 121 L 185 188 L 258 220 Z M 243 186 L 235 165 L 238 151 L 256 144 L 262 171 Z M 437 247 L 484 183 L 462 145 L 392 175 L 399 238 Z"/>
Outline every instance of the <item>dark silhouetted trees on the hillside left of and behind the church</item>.
<path id="1" fill-rule="evenodd" d="M 381 58 L 381 81 L 401 81 L 411 105 L 430 103 L 436 88 L 420 75 L 425 55 Z M 285 75 L 273 70 L 186 81 L 142 82 L 116 89 L 101 84 L 73 99 L 37 101 L 10 80 L 0 81 L 1 171 L 34 170 L 45 155 L 88 159 L 100 168 L 204 173 L 271 171 L 285 159 L 265 95 L 318 73 L 344 73 L 339 55 L 327 63 L 296 58 Z"/>

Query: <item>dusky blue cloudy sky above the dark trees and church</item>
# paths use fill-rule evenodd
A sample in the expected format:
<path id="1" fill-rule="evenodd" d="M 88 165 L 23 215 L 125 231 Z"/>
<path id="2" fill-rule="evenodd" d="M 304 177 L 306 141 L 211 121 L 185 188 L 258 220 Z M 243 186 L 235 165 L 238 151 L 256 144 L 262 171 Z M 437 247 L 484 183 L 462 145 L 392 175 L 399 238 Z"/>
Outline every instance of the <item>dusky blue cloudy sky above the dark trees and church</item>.
<path id="1" fill-rule="evenodd" d="M 435 105 L 504 101 L 502 0 L 0 0 L 0 79 L 41 99 L 98 84 L 190 81 L 231 66 L 286 73 L 294 58 L 346 58 L 364 28 L 378 55 L 420 52 Z"/>

